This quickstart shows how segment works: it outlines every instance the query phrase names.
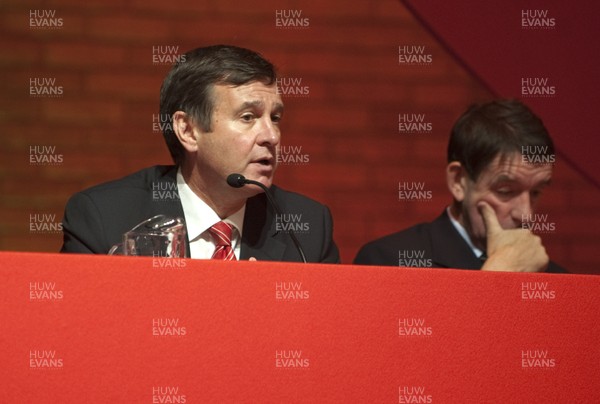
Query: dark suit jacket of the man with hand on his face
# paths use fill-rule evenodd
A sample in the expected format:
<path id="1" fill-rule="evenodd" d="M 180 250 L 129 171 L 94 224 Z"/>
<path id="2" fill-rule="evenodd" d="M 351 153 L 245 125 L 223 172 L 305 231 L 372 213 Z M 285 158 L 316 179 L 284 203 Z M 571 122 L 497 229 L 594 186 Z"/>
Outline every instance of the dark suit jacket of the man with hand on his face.
<path id="1" fill-rule="evenodd" d="M 402 262 L 400 260 L 402 259 Z M 446 210 L 433 222 L 421 223 L 363 246 L 355 264 L 481 269 L 465 239 L 454 228 Z M 546 272 L 566 272 L 550 262 Z"/>

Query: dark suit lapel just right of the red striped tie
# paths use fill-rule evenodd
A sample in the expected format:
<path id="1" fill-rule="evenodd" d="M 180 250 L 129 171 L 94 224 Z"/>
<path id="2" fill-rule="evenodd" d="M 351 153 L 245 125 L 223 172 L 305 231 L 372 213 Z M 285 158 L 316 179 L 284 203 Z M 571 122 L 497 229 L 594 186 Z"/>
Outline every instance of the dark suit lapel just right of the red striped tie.
<path id="1" fill-rule="evenodd" d="M 264 193 L 249 198 L 244 216 L 241 259 L 282 261 L 286 244 L 277 238 L 273 209 Z"/>

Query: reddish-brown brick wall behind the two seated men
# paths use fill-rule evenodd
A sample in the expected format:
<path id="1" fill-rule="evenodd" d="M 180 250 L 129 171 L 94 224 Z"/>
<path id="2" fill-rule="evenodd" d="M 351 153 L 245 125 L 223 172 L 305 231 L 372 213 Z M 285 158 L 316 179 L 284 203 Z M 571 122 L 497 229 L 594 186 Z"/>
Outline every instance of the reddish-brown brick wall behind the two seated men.
<path id="1" fill-rule="evenodd" d="M 277 10 L 296 13 L 304 27 L 278 27 Z M 31 27 L 40 16 L 61 26 Z M 59 222 L 74 192 L 170 163 L 152 127 L 169 69 L 153 63 L 157 46 L 249 47 L 308 87 L 303 97 L 284 96 L 282 141 L 308 162 L 282 165 L 277 183 L 330 206 L 345 263 L 365 242 L 439 214 L 449 202 L 449 129 L 467 105 L 490 97 L 394 0 L 10 0 L 1 19 L 3 250 L 58 250 L 60 233 L 32 231 L 35 218 Z M 424 46 L 432 62 L 400 64 L 404 45 Z M 62 96 L 32 97 L 31 78 L 54 79 Z M 400 132 L 401 114 L 423 116 L 431 131 Z M 30 164 L 36 146 L 54 147 L 62 161 Z M 431 200 L 399 201 L 404 181 L 424 183 Z M 599 272 L 599 203 L 598 190 L 559 161 L 541 207 L 557 227 L 545 244 L 576 272 Z"/>

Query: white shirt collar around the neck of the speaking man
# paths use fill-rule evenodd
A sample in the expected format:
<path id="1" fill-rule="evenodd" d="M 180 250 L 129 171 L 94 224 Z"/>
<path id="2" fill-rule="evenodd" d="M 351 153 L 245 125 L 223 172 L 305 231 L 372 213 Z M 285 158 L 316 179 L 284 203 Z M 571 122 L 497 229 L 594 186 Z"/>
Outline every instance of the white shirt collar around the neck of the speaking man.
<path id="1" fill-rule="evenodd" d="M 198 238 L 202 233 L 207 231 L 212 225 L 223 220 L 238 231 L 240 238 L 244 230 L 244 214 L 246 213 L 246 204 L 237 212 L 221 219 L 219 215 L 192 191 L 189 185 L 185 182 L 181 167 L 177 169 L 177 190 L 185 216 L 185 224 L 190 242 Z"/>

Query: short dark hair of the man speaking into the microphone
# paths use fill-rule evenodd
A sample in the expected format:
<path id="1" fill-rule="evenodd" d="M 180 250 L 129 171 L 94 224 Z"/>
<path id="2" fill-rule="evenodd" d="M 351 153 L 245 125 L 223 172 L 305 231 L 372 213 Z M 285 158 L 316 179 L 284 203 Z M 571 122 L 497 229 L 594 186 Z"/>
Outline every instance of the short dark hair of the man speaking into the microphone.
<path id="1" fill-rule="evenodd" d="M 176 164 L 183 162 L 184 148 L 173 131 L 173 114 L 183 111 L 202 128 L 212 130 L 215 84 L 244 85 L 259 81 L 275 83 L 274 66 L 258 53 L 229 45 L 191 50 L 173 66 L 160 89 L 160 116 L 163 136 Z"/>

